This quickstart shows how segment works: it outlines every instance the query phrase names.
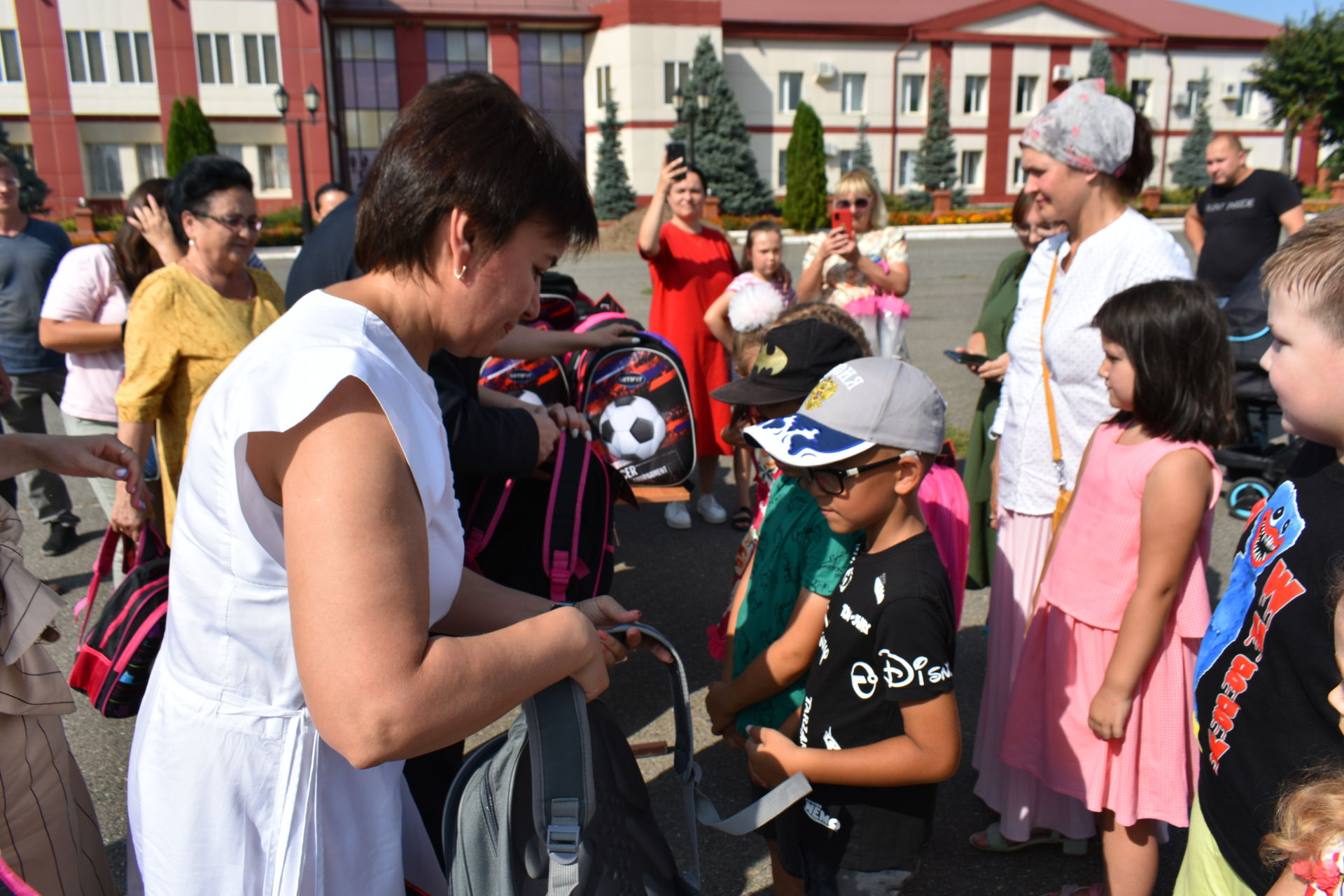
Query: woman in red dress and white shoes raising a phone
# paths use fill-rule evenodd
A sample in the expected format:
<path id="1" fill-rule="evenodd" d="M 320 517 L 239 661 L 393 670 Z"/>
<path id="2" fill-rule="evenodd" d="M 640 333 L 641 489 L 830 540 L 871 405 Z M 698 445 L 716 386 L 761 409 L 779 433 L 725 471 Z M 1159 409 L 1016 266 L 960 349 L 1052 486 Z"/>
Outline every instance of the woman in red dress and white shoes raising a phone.
<path id="1" fill-rule="evenodd" d="M 739 271 L 732 243 L 700 220 L 704 191 L 704 175 L 687 168 L 684 160 L 663 165 L 640 224 L 640 257 L 649 262 L 653 278 L 649 329 L 676 347 L 689 379 L 700 476 L 695 509 L 706 523 L 723 523 L 728 513 L 714 500 L 714 478 L 719 457 L 731 453 L 720 435 L 731 408 L 711 400 L 710 392 L 728 382 L 728 355 L 706 326 L 704 312 Z M 672 220 L 660 227 L 664 201 L 672 207 Z M 664 519 L 673 529 L 691 528 L 684 501 L 668 504 Z"/>

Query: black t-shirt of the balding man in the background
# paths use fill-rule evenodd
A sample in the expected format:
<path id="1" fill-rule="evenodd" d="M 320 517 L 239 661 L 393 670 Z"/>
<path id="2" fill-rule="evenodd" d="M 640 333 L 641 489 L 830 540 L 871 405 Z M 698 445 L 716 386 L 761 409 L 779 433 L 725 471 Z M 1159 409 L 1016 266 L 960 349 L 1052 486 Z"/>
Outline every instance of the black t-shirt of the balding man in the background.
<path id="1" fill-rule="evenodd" d="M 1277 171 L 1253 171 L 1235 187 L 1214 184 L 1195 207 L 1204 222 L 1196 279 L 1218 296 L 1232 289 L 1278 249 L 1278 216 L 1302 204 L 1302 192 Z"/>

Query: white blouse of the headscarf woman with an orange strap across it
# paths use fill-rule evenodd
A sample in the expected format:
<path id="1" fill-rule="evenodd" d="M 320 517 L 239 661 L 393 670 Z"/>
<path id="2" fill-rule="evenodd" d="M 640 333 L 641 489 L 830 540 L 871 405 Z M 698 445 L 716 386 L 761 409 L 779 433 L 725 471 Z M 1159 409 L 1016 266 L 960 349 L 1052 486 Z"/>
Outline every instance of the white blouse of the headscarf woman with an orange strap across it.
<path id="1" fill-rule="evenodd" d="M 1040 369 L 1040 316 L 1056 255 L 1060 269 L 1044 351 L 1067 489 L 1074 488 L 1093 430 L 1116 414 L 1097 373 L 1102 351 L 1093 317 L 1107 298 L 1130 286 L 1192 277 L 1189 259 L 1172 235 L 1132 208 L 1079 243 L 1077 251 L 1066 273 L 1068 236 L 1051 236 L 1036 247 L 1017 286 L 1017 309 L 1008 333 L 1012 360 L 991 427 L 1001 442 L 999 505 L 1015 513 L 1052 513 L 1059 497 Z"/>

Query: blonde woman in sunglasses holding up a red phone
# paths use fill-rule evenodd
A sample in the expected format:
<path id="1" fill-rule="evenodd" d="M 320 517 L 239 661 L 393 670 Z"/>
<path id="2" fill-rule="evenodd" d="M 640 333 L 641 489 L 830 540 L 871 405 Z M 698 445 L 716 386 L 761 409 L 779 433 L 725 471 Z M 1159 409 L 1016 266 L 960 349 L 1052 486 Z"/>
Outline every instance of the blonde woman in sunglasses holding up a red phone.
<path id="1" fill-rule="evenodd" d="M 853 214 L 853 235 L 836 227 L 808 239 L 798 298 L 804 302 L 820 298 L 844 308 L 867 296 L 910 292 L 906 231 L 886 226 L 887 206 L 872 175 L 862 168 L 845 172 L 836 184 L 831 207 Z"/>

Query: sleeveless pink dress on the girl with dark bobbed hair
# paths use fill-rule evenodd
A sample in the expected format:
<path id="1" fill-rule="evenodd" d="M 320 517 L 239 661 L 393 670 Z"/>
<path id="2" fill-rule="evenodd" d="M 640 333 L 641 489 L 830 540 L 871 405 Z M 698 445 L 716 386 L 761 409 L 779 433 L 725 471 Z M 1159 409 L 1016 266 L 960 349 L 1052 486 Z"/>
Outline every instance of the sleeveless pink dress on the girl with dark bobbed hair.
<path id="1" fill-rule="evenodd" d="M 1093 438 L 1023 643 L 1001 758 L 1090 811 L 1110 809 L 1121 825 L 1152 818 L 1184 827 L 1199 775 L 1189 720 L 1195 656 L 1210 617 L 1204 571 L 1222 474 L 1204 445 L 1120 445 L 1124 431 L 1124 424 L 1103 423 Z M 1144 486 L 1153 466 L 1181 449 L 1208 459 L 1214 497 L 1163 639 L 1134 690 L 1125 736 L 1102 740 L 1087 727 L 1087 711 L 1138 583 Z"/>

